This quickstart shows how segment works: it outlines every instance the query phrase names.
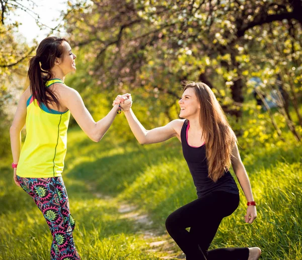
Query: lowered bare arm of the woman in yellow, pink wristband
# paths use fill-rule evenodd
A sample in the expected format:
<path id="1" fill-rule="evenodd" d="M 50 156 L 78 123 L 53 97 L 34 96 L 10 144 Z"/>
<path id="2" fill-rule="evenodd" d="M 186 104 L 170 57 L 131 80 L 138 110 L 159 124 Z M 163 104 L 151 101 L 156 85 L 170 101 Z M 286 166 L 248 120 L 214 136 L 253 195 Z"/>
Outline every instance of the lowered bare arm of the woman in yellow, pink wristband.
<path id="1" fill-rule="evenodd" d="M 15 117 L 10 128 L 11 148 L 14 164 L 18 164 L 21 152 L 21 131 L 26 121 L 26 97 L 29 95 L 27 93 L 28 91 L 29 89 L 27 89 L 20 97 Z M 19 182 L 17 181 L 16 170 L 17 168 L 14 169 L 14 181 L 16 185 L 20 186 Z"/>

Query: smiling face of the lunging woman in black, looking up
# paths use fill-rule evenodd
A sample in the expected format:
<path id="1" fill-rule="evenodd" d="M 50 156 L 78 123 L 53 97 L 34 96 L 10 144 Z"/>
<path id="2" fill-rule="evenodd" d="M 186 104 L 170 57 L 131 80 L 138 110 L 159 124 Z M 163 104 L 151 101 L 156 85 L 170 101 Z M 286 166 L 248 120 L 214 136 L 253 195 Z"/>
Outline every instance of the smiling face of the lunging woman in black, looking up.
<path id="1" fill-rule="evenodd" d="M 178 102 L 180 105 L 179 116 L 181 118 L 188 119 L 192 116 L 199 116 L 200 103 L 192 87 L 187 88 L 183 92 L 182 97 Z"/>

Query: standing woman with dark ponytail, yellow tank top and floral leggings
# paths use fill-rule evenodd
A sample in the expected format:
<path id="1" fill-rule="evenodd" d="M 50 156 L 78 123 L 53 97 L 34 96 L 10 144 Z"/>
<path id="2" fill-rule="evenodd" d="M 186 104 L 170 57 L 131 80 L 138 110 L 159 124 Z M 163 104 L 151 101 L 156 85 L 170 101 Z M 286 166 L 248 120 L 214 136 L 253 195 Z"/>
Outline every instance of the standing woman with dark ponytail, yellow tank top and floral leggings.
<path id="1" fill-rule="evenodd" d="M 62 179 L 70 113 L 83 131 L 99 142 L 117 112 L 128 110 L 131 100 L 115 105 L 103 119 L 95 122 L 80 94 L 64 84 L 65 76 L 75 71 L 75 56 L 64 38 L 47 37 L 29 62 L 30 86 L 22 94 L 12 123 L 11 147 L 14 181 L 35 201 L 51 231 L 51 259 L 80 259 L 72 231 L 74 220 Z M 130 94 L 124 94 L 127 99 Z M 26 139 L 21 150 L 21 130 L 26 124 Z"/>

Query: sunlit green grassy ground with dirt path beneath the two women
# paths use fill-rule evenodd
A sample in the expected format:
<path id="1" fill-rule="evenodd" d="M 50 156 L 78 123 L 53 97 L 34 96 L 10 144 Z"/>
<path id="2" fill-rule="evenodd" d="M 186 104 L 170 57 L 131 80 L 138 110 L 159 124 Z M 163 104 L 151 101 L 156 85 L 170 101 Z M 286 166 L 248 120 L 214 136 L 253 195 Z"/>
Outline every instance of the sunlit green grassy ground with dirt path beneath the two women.
<path id="1" fill-rule="evenodd" d="M 262 259 L 302 259 L 301 154 L 302 147 L 290 141 L 241 153 L 258 218 L 253 225 L 244 222 L 246 199 L 241 190 L 239 209 L 222 221 L 211 248 L 259 246 Z M 13 183 L 10 162 L 0 164 L 0 259 L 49 259 L 46 222 L 32 199 Z M 65 162 L 63 178 L 82 259 L 183 257 L 165 231 L 167 216 L 196 198 L 178 140 L 140 146 L 109 132 L 94 143 L 72 129 Z M 147 215 L 148 222 L 123 213 L 123 204 Z"/>

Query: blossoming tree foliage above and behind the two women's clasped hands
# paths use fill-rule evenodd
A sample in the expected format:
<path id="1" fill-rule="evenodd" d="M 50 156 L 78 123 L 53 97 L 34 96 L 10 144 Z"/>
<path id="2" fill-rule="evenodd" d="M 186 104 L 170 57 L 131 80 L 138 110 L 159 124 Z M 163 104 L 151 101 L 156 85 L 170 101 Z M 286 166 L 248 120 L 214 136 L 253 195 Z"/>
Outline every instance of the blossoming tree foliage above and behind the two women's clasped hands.
<path id="1" fill-rule="evenodd" d="M 151 120 L 171 120 L 178 115 L 180 81 L 201 80 L 224 111 L 238 117 L 257 110 L 242 102 L 251 99 L 249 80 L 258 77 L 264 96 L 282 86 L 287 99 L 279 114 L 287 127 L 301 126 L 299 1 L 96 0 L 70 4 L 70 10 L 65 27 L 92 77 L 90 93 L 105 91 L 111 98 L 113 90 L 131 91 L 137 105 L 149 106 Z M 287 120 L 289 106 L 296 120 Z"/>

